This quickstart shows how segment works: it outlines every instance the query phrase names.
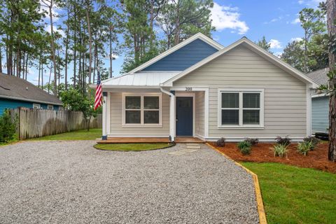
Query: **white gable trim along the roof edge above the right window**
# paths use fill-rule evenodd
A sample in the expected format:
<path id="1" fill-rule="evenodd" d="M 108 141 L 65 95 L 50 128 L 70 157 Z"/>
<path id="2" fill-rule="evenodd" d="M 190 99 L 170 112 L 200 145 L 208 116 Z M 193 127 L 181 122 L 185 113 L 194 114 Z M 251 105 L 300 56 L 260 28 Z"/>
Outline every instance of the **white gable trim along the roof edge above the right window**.
<path id="1" fill-rule="evenodd" d="M 297 69 L 293 68 L 286 62 L 283 62 L 278 57 L 272 55 L 271 53 L 267 52 L 266 50 L 260 48 L 258 45 L 253 43 L 252 41 L 248 40 L 248 38 L 243 37 L 239 41 L 236 41 L 235 43 L 232 43 L 231 45 L 228 45 L 228 47 L 223 48 L 222 50 L 219 50 L 218 52 L 214 53 L 213 55 L 210 55 L 209 57 L 206 57 L 205 59 L 202 59 L 202 61 L 194 64 L 193 66 L 190 66 L 188 69 L 182 71 L 179 73 L 179 75 L 174 76 L 170 78 L 169 80 L 165 81 L 165 83 L 162 83 L 162 86 L 173 86 L 174 81 L 179 80 L 183 76 L 186 76 L 188 73 L 195 71 L 195 69 L 200 68 L 200 66 L 207 64 L 208 62 L 211 62 L 213 59 L 225 54 L 225 52 L 228 52 L 229 50 L 232 50 L 233 48 L 236 48 L 238 45 L 245 44 L 246 47 L 248 47 L 250 50 L 253 50 L 254 52 L 258 53 L 258 55 L 264 57 L 265 59 L 269 60 L 269 62 L 272 62 L 273 64 L 276 64 L 277 66 L 281 67 L 281 69 L 287 71 L 288 73 L 292 74 L 296 78 L 302 80 L 304 83 L 309 83 L 312 85 L 312 87 L 317 88 L 319 86 L 318 83 L 316 83 L 314 80 L 309 78 L 308 76 L 304 75 L 301 71 L 298 71 Z"/>

